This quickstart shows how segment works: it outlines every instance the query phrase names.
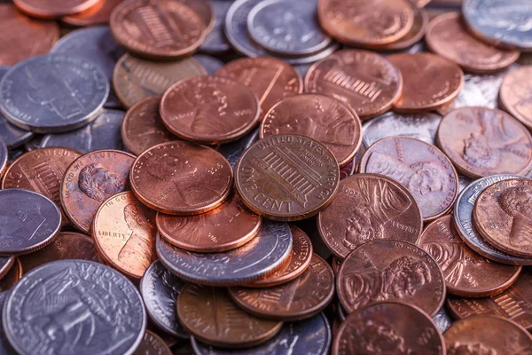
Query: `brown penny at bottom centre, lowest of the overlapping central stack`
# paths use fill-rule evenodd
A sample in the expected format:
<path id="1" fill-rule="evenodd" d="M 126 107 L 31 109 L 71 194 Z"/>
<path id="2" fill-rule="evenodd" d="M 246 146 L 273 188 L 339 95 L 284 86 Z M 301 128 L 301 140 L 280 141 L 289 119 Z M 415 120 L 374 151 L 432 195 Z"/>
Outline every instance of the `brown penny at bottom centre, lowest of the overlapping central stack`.
<path id="1" fill-rule="evenodd" d="M 193 283 L 187 284 L 177 297 L 177 315 L 181 324 L 202 343 L 227 348 L 264 343 L 283 325 L 240 310 L 223 288 Z"/>

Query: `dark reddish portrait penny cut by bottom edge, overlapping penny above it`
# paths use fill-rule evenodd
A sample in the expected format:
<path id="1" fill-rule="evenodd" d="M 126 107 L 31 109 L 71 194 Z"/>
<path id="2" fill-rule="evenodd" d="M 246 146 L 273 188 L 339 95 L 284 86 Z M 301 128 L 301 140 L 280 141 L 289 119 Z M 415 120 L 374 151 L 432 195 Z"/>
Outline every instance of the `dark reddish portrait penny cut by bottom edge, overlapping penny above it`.
<path id="1" fill-rule="evenodd" d="M 411 304 L 383 302 L 354 312 L 342 323 L 332 355 L 445 355 L 434 321 Z"/>

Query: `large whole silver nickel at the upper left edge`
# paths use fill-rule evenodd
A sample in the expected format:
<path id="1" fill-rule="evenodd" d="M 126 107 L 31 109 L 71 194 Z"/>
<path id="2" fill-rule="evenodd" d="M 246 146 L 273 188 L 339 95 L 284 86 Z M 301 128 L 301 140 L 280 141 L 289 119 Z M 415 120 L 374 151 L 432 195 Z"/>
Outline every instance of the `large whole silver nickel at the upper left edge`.
<path id="1" fill-rule="evenodd" d="M 109 94 L 106 75 L 92 62 L 50 54 L 26 59 L 0 82 L 0 110 L 37 133 L 75 130 L 96 118 Z"/>

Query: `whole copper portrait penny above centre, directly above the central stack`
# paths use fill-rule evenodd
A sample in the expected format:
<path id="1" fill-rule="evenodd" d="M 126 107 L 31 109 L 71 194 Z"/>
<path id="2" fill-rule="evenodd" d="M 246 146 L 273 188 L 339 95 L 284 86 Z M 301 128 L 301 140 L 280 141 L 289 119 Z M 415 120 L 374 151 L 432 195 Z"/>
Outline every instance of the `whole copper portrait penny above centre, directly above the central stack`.
<path id="1" fill-rule="evenodd" d="M 193 76 L 168 88 L 160 116 L 177 137 L 200 144 L 245 136 L 259 121 L 261 106 L 246 85 L 223 76 Z"/>

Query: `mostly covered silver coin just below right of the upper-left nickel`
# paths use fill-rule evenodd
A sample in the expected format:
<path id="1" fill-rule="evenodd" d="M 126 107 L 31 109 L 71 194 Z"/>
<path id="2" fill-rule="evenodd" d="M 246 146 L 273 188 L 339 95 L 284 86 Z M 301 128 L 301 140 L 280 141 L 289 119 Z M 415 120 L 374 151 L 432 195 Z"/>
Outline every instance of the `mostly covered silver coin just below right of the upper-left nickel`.
<path id="1" fill-rule="evenodd" d="M 104 109 L 90 124 L 71 132 L 48 134 L 41 140 L 41 147 L 64 146 L 82 153 L 101 149 L 124 150 L 121 140 L 121 122 L 124 111 Z"/>

